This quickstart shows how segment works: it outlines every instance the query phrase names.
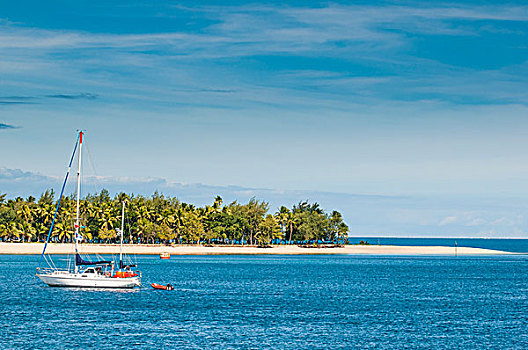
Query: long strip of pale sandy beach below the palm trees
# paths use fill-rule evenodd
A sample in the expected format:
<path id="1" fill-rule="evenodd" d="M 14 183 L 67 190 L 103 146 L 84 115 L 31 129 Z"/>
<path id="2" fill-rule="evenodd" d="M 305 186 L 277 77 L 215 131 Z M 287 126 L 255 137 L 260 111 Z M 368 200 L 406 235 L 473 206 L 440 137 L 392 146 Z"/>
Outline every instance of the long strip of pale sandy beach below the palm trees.
<path id="1" fill-rule="evenodd" d="M 0 255 L 39 255 L 44 243 L 0 243 Z M 515 255 L 519 253 L 501 250 L 457 247 L 457 255 Z M 119 254 L 119 244 L 84 244 L 83 254 Z M 394 245 L 346 245 L 339 248 L 302 248 L 296 245 L 275 245 L 271 248 L 256 246 L 204 246 L 124 244 L 123 252 L 133 255 L 455 255 L 455 247 L 447 246 L 394 246 Z M 71 243 L 49 243 L 47 254 L 71 254 Z"/>

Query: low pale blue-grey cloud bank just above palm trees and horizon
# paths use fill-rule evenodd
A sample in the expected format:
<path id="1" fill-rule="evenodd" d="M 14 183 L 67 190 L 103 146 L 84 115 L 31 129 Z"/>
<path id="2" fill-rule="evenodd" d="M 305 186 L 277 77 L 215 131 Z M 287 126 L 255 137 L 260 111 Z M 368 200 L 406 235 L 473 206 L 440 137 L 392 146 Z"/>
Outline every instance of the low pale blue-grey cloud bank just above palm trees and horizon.
<path id="1" fill-rule="evenodd" d="M 270 203 L 270 211 L 280 205 L 292 206 L 299 201 L 318 202 L 326 210 L 337 209 L 344 215 L 352 235 L 397 235 L 449 237 L 523 237 L 528 231 L 528 207 L 524 199 L 486 200 L 482 198 L 446 198 L 420 196 L 388 196 L 336 193 L 322 191 L 291 191 L 243 186 L 213 186 L 180 183 L 164 178 L 135 178 L 112 176 L 84 177 L 84 193 L 103 188 L 112 194 L 119 192 L 150 196 L 154 191 L 197 205 L 211 204 L 221 195 L 224 202 L 247 202 L 256 197 Z M 9 197 L 43 193 L 48 188 L 56 192 L 60 176 L 0 167 L 0 189 Z M 66 193 L 75 191 L 74 184 Z"/>

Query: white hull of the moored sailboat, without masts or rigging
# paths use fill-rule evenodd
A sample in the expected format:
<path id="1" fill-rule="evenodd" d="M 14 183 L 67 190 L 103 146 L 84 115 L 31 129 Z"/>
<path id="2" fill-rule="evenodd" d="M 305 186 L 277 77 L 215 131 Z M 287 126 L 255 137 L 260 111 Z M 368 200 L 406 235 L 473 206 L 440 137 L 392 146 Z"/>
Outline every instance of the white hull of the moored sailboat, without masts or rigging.
<path id="1" fill-rule="evenodd" d="M 139 277 L 113 278 L 104 275 L 69 272 L 37 274 L 37 277 L 50 287 L 131 289 L 141 286 Z"/>

